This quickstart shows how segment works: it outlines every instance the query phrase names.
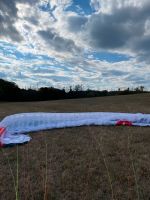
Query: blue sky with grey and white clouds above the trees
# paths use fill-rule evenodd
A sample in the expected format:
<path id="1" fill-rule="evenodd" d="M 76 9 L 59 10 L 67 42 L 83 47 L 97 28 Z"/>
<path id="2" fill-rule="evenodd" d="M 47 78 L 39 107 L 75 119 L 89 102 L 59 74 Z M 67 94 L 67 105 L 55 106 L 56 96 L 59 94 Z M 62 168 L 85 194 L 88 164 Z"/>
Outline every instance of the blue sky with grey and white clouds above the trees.
<path id="1" fill-rule="evenodd" d="M 150 88 L 149 0 L 0 0 L 0 78 Z"/>

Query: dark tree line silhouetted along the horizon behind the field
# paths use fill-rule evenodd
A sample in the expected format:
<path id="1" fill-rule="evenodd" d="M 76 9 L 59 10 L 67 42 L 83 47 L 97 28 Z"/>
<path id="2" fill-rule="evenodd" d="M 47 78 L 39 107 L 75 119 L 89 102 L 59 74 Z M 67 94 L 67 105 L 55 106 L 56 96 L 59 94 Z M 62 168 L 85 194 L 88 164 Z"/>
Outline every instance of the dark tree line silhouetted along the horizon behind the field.
<path id="1" fill-rule="evenodd" d="M 45 100 L 58 100 L 58 99 L 71 99 L 71 98 L 88 98 L 112 95 L 128 95 L 145 93 L 143 86 L 134 89 L 124 89 L 115 91 L 108 90 L 83 90 L 82 85 L 76 85 L 65 89 L 58 89 L 54 87 L 41 87 L 39 89 L 21 89 L 14 82 L 0 79 L 0 101 L 45 101 Z"/>

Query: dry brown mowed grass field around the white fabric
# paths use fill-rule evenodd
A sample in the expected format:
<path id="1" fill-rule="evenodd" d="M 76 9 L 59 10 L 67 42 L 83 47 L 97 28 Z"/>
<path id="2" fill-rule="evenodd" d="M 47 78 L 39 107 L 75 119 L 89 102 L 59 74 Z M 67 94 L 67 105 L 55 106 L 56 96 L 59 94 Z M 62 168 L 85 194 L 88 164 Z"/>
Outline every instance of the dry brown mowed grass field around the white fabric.
<path id="1" fill-rule="evenodd" d="M 0 103 L 20 112 L 150 113 L 150 94 Z M 84 126 L 29 133 L 0 149 L 0 200 L 150 199 L 150 128 Z"/>

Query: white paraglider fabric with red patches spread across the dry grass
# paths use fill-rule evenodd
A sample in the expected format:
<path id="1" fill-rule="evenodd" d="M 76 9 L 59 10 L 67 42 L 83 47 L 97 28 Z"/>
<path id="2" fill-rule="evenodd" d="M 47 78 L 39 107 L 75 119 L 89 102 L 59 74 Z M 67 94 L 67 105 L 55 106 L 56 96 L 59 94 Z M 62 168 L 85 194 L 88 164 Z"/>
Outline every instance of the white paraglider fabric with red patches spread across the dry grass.
<path id="1" fill-rule="evenodd" d="M 113 112 L 83 113 L 21 113 L 5 117 L 0 122 L 0 143 L 28 142 L 27 132 L 83 125 L 150 126 L 150 114 Z"/>

